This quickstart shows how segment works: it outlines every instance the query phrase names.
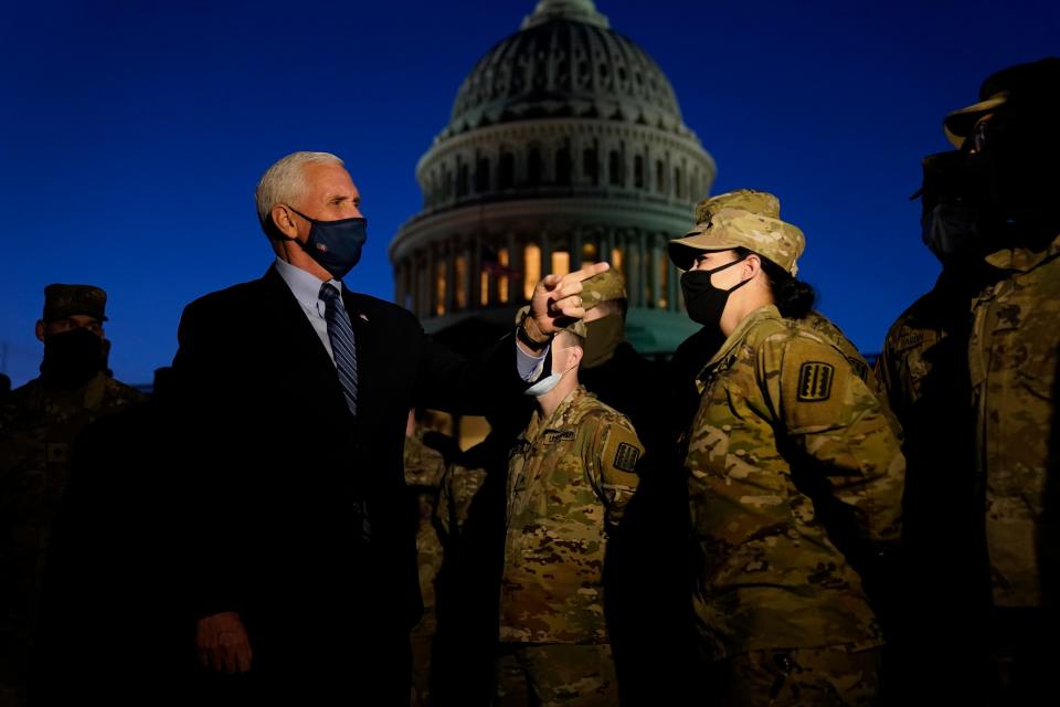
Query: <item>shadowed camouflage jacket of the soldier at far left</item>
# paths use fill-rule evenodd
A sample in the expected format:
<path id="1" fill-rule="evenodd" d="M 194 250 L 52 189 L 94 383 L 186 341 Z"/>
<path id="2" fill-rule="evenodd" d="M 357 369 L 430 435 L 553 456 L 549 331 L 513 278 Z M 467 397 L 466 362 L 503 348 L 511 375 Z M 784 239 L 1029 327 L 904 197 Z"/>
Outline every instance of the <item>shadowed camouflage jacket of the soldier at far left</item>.
<path id="1" fill-rule="evenodd" d="M 77 434 L 144 400 L 141 392 L 104 373 L 72 391 L 36 378 L 11 392 L 0 408 L 0 517 L 18 537 L 4 538 L 4 550 L 46 548 Z"/>

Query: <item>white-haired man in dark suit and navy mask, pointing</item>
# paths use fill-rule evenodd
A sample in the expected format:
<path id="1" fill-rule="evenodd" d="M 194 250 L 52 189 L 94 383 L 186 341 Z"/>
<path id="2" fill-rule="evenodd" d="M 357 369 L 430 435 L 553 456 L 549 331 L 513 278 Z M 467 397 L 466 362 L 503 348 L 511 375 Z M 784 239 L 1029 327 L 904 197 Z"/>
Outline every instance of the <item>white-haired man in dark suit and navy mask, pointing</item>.
<path id="1" fill-rule="evenodd" d="M 173 360 L 188 424 L 188 595 L 203 669 L 236 699 L 409 701 L 418 619 L 403 485 L 410 408 L 480 411 L 541 368 L 581 281 L 549 276 L 515 334 L 468 361 L 415 317 L 350 292 L 367 239 L 342 160 L 295 152 L 257 188 L 276 260 L 183 313 Z M 518 373 L 517 366 L 518 363 Z"/>

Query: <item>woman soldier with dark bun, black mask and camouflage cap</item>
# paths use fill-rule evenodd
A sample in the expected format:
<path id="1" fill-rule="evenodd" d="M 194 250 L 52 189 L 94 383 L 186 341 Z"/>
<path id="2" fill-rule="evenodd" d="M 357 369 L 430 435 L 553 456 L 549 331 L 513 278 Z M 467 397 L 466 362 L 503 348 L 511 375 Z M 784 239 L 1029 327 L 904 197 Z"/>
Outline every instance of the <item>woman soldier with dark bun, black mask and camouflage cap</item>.
<path id="1" fill-rule="evenodd" d="M 879 624 L 861 574 L 900 534 L 904 458 L 845 354 L 795 319 L 802 232 L 719 209 L 671 241 L 689 316 L 725 342 L 686 435 L 703 704 L 866 705 Z"/>

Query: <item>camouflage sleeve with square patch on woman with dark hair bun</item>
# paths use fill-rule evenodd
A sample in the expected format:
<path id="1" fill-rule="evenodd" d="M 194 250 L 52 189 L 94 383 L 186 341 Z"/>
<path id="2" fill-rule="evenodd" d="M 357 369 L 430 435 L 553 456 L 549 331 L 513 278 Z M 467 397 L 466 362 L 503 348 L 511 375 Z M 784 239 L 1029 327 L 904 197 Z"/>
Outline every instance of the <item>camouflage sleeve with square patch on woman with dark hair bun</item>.
<path id="1" fill-rule="evenodd" d="M 759 366 L 795 451 L 796 483 L 820 492 L 826 513 L 838 514 L 861 540 L 898 540 L 905 458 L 872 391 L 818 339 L 775 337 L 761 347 Z"/>

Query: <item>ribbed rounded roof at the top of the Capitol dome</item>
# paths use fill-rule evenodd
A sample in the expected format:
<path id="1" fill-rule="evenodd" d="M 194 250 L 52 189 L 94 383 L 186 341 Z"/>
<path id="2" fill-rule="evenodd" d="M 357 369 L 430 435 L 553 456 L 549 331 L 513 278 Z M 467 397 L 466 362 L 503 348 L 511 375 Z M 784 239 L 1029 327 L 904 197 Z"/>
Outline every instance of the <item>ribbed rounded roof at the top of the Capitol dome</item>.
<path id="1" fill-rule="evenodd" d="M 585 117 L 686 134 L 658 65 L 590 0 L 542 0 L 464 80 L 441 137 L 498 123 Z"/>

